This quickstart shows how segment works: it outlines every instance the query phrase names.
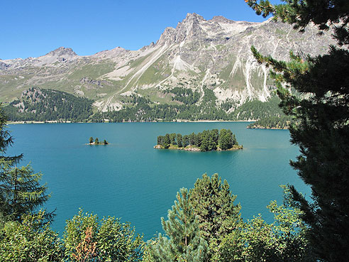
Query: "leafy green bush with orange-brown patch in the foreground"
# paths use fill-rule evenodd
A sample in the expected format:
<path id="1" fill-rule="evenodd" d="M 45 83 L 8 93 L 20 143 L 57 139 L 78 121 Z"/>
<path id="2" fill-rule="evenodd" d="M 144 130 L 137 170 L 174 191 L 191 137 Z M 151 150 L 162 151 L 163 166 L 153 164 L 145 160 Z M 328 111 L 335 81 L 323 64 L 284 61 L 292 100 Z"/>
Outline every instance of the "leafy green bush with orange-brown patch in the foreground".
<path id="1" fill-rule="evenodd" d="M 99 221 L 96 214 L 82 209 L 67 220 L 62 244 L 68 261 L 128 262 L 141 260 L 144 245 L 143 236 L 136 235 L 131 224 L 115 217 Z"/>

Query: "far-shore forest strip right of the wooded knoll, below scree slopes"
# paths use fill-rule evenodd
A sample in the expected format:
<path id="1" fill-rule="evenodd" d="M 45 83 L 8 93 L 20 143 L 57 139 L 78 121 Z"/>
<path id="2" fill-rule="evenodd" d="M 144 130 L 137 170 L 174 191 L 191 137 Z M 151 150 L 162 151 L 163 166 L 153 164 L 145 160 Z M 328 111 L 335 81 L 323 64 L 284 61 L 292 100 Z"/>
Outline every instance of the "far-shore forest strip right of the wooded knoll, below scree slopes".
<path id="1" fill-rule="evenodd" d="M 231 111 L 230 109 L 235 108 L 236 104 L 226 101 L 218 105 L 216 96 L 211 89 L 204 89 L 204 97 L 201 104 L 192 104 L 197 99 L 197 95 L 192 90 L 184 88 L 175 90 L 176 97 L 182 94 L 180 97 L 185 98 L 181 100 L 183 102 L 182 104 L 155 104 L 145 97 L 133 95 L 131 97 L 132 104 L 119 111 L 98 112 L 92 116 L 92 121 L 101 122 L 104 119 L 110 119 L 112 122 L 178 120 L 236 121 L 284 115 L 278 106 L 280 100 L 275 96 L 268 102 L 260 102 L 258 100 L 245 102 L 242 106 Z M 184 102 L 187 102 L 187 104 Z M 228 111 L 231 111 L 231 113 L 228 113 Z"/>

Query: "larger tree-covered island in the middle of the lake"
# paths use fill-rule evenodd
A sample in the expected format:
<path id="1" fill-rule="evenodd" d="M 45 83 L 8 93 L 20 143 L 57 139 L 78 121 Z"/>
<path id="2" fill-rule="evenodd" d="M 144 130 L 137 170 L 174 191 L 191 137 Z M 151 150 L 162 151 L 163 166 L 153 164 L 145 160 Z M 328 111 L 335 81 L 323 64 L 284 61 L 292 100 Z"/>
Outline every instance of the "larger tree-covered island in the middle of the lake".
<path id="1" fill-rule="evenodd" d="M 230 129 L 204 130 L 182 136 L 181 133 L 166 133 L 157 136 L 157 149 L 177 149 L 185 151 L 231 151 L 243 149 Z"/>

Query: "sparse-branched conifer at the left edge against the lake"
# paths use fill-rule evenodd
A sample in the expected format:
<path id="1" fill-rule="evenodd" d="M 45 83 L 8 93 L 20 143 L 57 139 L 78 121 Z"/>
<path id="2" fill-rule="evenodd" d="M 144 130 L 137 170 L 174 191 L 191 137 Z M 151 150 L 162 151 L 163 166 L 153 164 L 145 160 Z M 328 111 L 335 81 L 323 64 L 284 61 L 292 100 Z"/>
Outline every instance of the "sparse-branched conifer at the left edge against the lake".
<path id="1" fill-rule="evenodd" d="M 50 197 L 45 193 L 47 187 L 40 185 L 40 173 L 34 173 L 30 165 L 16 167 L 23 155 L 6 155 L 12 143 L 6 116 L 0 108 L 0 227 L 9 221 L 20 221 L 22 214 L 37 211 Z M 46 214 L 46 218 L 52 218 L 52 213 Z"/>

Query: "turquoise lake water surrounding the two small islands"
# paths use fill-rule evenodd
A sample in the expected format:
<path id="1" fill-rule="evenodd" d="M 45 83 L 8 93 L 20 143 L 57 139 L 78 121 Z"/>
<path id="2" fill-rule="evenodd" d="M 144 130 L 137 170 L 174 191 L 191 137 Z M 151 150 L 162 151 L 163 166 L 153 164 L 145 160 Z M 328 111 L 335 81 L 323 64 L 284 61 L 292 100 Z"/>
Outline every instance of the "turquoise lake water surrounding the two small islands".
<path id="1" fill-rule="evenodd" d="M 115 124 L 17 124 L 10 125 L 15 143 L 9 155 L 24 154 L 43 173 L 56 209 L 52 228 L 62 234 L 65 220 L 79 207 L 99 217 L 120 217 L 150 239 L 162 231 L 160 217 L 167 217 L 179 188 L 194 186 L 197 178 L 218 173 L 226 179 L 243 219 L 262 214 L 271 200 L 282 202 L 279 185 L 309 188 L 289 166 L 299 153 L 289 143 L 289 131 L 246 129 L 246 122 L 214 123 L 115 123 Z M 244 149 L 229 152 L 156 150 L 157 136 L 189 134 L 204 129 L 231 129 Z M 108 146 L 85 145 L 89 137 L 106 139 Z M 309 194 L 307 194 L 309 195 Z"/>

